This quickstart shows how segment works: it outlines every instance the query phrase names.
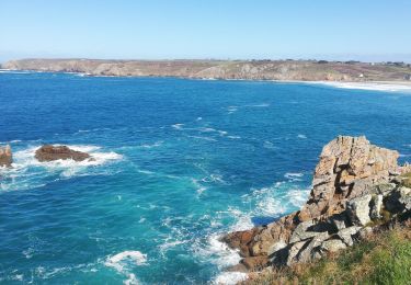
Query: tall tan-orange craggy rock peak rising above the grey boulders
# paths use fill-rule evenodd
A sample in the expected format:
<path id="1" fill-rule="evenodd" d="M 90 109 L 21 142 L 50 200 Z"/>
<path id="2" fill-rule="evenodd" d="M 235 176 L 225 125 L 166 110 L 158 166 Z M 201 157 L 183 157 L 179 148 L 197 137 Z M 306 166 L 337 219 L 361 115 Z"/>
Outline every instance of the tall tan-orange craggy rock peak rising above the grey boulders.
<path id="1" fill-rule="evenodd" d="M 367 194 L 398 170 L 399 153 L 369 144 L 365 137 L 340 136 L 322 149 L 312 191 L 298 217 L 301 221 L 344 210 L 345 201 Z"/>

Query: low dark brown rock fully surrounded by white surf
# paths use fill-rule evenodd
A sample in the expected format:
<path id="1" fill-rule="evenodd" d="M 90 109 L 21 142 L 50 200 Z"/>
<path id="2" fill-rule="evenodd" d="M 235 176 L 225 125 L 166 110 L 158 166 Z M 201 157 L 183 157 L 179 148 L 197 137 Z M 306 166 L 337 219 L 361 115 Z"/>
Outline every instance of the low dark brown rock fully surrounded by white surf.
<path id="1" fill-rule="evenodd" d="M 85 152 L 72 150 L 67 146 L 52 146 L 46 145 L 36 150 L 35 158 L 41 161 L 54 161 L 59 159 L 72 159 L 75 161 L 83 161 L 91 159 L 91 156 Z"/>

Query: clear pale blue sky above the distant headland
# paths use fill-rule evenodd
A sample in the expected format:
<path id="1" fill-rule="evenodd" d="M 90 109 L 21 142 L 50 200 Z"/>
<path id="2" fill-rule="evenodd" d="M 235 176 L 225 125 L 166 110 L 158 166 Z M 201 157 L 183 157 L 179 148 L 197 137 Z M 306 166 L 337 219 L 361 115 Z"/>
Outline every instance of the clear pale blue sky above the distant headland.
<path id="1" fill-rule="evenodd" d="M 0 0 L 16 58 L 411 62 L 410 0 Z"/>

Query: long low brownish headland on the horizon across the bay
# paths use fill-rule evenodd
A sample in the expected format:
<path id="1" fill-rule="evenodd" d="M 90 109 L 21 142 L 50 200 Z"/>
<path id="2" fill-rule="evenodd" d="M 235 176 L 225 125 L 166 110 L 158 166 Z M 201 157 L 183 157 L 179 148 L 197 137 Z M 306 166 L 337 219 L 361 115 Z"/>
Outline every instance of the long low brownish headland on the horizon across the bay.
<path id="1" fill-rule="evenodd" d="M 323 60 L 95 60 L 22 59 L 2 68 L 81 72 L 89 76 L 183 77 L 302 81 L 401 81 L 411 75 L 409 65 L 340 62 Z"/>

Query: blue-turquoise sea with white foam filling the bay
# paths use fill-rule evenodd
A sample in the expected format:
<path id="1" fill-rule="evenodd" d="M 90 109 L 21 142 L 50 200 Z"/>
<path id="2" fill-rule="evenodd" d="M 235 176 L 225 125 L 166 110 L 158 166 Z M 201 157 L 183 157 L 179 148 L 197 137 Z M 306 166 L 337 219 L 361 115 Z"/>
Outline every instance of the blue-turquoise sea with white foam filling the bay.
<path id="1" fill-rule="evenodd" d="M 218 236 L 297 209 L 336 135 L 411 153 L 411 95 L 399 92 L 3 72 L 0 100 L 14 151 L 0 170 L 1 283 L 227 277 L 238 256 Z M 36 162 L 46 142 L 96 160 Z"/>

